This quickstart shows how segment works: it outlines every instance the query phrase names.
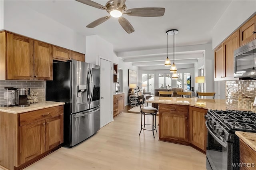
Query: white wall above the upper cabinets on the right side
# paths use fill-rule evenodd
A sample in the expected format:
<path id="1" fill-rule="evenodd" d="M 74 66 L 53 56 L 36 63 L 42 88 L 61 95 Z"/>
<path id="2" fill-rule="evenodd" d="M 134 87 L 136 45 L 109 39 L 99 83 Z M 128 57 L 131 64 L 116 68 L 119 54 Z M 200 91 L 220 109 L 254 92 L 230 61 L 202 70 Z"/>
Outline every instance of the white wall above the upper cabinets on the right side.
<path id="1" fill-rule="evenodd" d="M 233 0 L 212 30 L 212 49 L 256 12 L 255 0 Z"/>

